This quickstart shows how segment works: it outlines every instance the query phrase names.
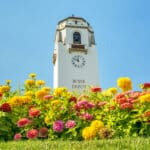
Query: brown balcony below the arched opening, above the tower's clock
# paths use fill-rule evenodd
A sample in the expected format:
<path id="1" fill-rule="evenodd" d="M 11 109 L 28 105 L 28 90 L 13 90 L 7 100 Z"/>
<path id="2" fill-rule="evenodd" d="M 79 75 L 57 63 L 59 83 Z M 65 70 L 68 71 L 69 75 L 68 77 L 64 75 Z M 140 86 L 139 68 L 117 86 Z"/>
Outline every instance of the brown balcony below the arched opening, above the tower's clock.
<path id="1" fill-rule="evenodd" d="M 85 48 L 85 45 L 83 44 L 71 44 L 69 46 L 69 53 L 72 52 L 83 52 L 87 54 L 87 49 Z"/>

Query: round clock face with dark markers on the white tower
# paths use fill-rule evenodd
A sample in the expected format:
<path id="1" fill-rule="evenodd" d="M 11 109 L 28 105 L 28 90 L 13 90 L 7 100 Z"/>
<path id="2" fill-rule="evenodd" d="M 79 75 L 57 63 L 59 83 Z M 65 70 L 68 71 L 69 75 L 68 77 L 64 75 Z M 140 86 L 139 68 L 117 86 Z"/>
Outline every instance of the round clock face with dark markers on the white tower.
<path id="1" fill-rule="evenodd" d="M 72 57 L 71 62 L 73 66 L 77 68 L 82 68 L 85 65 L 85 58 L 81 55 L 75 55 Z"/>

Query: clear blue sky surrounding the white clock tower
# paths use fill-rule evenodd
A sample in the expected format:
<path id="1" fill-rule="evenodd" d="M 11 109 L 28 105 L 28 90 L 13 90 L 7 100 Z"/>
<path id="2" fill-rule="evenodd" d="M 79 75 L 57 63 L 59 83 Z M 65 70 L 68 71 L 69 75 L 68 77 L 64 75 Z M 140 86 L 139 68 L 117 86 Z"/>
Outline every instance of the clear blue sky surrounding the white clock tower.
<path id="1" fill-rule="evenodd" d="M 93 27 L 100 85 L 130 77 L 134 89 L 150 82 L 149 0 L 0 0 L 0 84 L 23 84 L 28 74 L 52 87 L 58 21 L 74 14 Z"/>

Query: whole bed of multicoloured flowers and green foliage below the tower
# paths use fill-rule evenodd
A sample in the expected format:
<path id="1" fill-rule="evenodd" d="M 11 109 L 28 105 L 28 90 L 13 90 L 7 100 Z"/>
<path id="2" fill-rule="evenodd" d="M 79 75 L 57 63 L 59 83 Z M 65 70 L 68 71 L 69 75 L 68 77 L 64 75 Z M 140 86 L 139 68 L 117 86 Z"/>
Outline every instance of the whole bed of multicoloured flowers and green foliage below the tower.
<path id="1" fill-rule="evenodd" d="M 122 77 L 118 87 L 89 87 L 81 94 L 53 90 L 34 73 L 21 91 L 10 83 L 0 86 L 0 140 L 150 136 L 150 83 L 133 91 L 131 79 Z"/>

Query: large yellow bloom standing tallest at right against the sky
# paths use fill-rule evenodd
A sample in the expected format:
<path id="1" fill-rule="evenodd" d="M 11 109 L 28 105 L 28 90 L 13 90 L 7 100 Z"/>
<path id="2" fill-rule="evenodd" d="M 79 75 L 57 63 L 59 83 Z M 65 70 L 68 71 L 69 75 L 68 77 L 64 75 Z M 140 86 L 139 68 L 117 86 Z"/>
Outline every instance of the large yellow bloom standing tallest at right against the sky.
<path id="1" fill-rule="evenodd" d="M 117 80 L 117 85 L 122 89 L 123 92 L 129 91 L 132 89 L 132 81 L 128 77 L 122 77 Z"/>

